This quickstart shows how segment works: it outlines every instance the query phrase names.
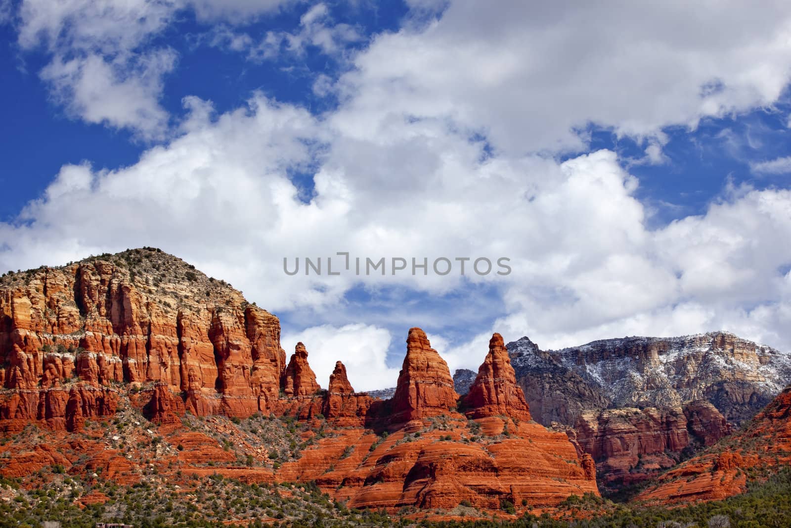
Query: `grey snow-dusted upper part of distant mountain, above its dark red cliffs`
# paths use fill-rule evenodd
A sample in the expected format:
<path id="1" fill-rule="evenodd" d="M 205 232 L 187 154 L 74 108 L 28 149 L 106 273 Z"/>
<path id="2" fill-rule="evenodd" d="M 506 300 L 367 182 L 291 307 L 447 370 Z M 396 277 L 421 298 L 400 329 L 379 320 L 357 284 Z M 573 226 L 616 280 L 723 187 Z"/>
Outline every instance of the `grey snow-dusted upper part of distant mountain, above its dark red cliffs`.
<path id="1" fill-rule="evenodd" d="M 791 382 L 791 355 L 729 332 L 624 337 L 541 351 L 506 345 L 532 416 L 573 425 L 602 408 L 669 408 L 710 401 L 729 422 L 755 415 Z"/>

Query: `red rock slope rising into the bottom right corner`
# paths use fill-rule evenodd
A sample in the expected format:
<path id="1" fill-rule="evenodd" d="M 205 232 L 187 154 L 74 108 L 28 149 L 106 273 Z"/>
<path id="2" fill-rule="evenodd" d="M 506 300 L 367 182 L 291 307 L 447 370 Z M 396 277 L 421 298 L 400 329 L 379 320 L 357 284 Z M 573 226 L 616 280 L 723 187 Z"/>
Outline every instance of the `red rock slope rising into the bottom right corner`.
<path id="1" fill-rule="evenodd" d="M 742 430 L 664 473 L 639 500 L 679 504 L 721 500 L 791 464 L 791 386 Z"/>

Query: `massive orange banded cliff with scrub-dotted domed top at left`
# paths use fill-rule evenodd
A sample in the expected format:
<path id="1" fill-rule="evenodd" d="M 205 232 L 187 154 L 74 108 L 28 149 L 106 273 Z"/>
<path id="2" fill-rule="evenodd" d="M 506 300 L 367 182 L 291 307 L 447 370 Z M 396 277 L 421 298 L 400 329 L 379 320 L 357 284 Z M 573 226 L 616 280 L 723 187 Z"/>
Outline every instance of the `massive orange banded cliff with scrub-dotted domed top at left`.
<path id="1" fill-rule="evenodd" d="M 277 317 L 149 249 L 4 277 L 0 356 L 16 391 L 0 416 L 24 420 L 70 420 L 53 402 L 75 382 L 158 382 L 195 414 L 248 416 L 274 408 L 285 363 Z"/>

